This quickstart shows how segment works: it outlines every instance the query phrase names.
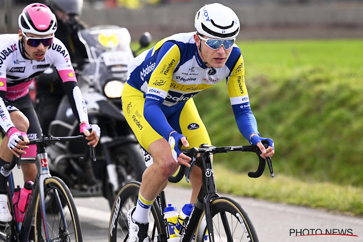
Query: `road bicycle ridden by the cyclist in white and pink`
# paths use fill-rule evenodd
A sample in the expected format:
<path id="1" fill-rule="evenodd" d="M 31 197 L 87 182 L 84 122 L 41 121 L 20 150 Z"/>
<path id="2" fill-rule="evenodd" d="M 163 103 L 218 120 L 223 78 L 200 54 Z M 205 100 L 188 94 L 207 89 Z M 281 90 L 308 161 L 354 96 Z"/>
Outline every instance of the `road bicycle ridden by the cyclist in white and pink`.
<path id="1" fill-rule="evenodd" d="M 54 137 L 43 136 L 30 140 L 30 145 L 37 146 L 35 159 L 23 160 L 13 156 L 12 162 L 6 164 L 6 170 L 12 170 L 20 163 L 35 163 L 35 177 L 29 204 L 23 222 L 16 222 L 15 207 L 12 201 L 15 185 L 12 172 L 8 179 L 8 202 L 13 221 L 0 223 L 0 241 L 4 242 L 82 242 L 81 224 L 76 205 L 66 184 L 58 177 L 49 173 L 45 146 L 54 145 L 59 141 L 81 141 L 84 143 L 85 156 L 79 162 L 87 162 L 90 157 L 95 160 L 92 146 L 87 145 L 85 136 Z M 52 203 L 47 200 L 52 199 Z M 31 238 L 34 237 L 34 238 Z"/>

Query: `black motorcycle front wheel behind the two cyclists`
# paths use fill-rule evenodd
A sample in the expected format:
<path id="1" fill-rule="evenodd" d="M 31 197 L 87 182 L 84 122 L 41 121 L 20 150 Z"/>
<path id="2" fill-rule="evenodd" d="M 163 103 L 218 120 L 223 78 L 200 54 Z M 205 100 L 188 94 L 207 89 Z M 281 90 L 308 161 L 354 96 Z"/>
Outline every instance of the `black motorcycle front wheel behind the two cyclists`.
<path id="1" fill-rule="evenodd" d="M 111 149 L 112 162 L 116 164 L 119 187 L 114 192 L 108 177 L 104 187 L 105 197 L 112 208 L 116 195 L 123 185 L 129 181 L 140 181 L 146 166 L 142 149 L 137 143 L 121 145 Z M 107 171 L 106 171 L 107 172 Z"/>

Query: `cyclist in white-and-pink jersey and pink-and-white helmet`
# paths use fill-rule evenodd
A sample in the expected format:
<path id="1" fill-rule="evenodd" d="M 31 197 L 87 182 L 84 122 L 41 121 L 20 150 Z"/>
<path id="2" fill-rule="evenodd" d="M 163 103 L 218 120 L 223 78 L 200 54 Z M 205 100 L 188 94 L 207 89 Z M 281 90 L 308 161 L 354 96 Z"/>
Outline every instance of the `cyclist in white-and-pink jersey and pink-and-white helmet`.
<path id="1" fill-rule="evenodd" d="M 54 37 L 57 20 L 50 9 L 32 3 L 19 15 L 18 34 L 0 35 L 0 126 L 4 132 L 0 144 L 0 221 L 9 222 L 12 216 L 7 206 L 6 184 L 9 172 L 3 165 L 13 154 L 22 159 L 36 156 L 36 146 L 29 139 L 42 136 L 37 115 L 32 106 L 29 86 L 36 76 L 54 65 L 63 81 L 73 112 L 80 123 L 80 133 L 95 147 L 100 128 L 89 124 L 86 103 L 78 87 L 69 54 L 60 40 Z M 91 133 L 89 130 L 92 130 Z M 19 139 L 24 137 L 24 141 Z M 24 150 L 22 150 L 24 149 Z M 34 181 L 34 164 L 22 164 L 24 181 Z"/>

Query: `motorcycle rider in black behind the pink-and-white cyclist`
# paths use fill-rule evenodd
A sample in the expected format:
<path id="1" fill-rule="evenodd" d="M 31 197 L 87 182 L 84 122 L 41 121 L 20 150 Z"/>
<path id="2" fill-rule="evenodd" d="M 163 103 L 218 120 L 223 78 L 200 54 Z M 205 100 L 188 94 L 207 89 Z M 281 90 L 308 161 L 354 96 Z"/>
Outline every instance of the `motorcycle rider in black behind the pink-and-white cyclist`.
<path id="1" fill-rule="evenodd" d="M 45 0 L 44 3 L 57 17 L 58 28 L 55 37 L 61 40 L 68 50 L 73 67 L 81 68 L 83 60 L 87 58 L 86 48 L 77 35 L 78 30 L 87 28 L 87 25 L 79 20 L 83 0 Z M 55 119 L 58 106 L 65 95 L 59 76 L 47 76 L 50 75 L 40 75 L 35 79 L 35 111 L 45 136 L 48 135 L 49 124 Z M 50 79 L 52 81 L 49 81 Z"/>

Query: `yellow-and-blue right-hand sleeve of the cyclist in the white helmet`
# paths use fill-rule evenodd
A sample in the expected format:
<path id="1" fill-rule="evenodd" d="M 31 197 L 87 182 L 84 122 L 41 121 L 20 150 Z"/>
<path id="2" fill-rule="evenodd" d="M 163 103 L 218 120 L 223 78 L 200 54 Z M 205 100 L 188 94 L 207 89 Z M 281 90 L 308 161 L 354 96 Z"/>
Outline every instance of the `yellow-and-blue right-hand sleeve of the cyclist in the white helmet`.
<path id="1" fill-rule="evenodd" d="M 242 55 L 234 65 L 231 75 L 227 77 L 229 100 L 237 122 L 238 129 L 248 141 L 254 133 L 258 134 L 257 121 L 252 113 L 247 88 L 244 81 L 244 64 Z"/>

